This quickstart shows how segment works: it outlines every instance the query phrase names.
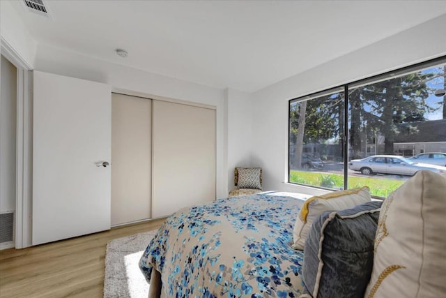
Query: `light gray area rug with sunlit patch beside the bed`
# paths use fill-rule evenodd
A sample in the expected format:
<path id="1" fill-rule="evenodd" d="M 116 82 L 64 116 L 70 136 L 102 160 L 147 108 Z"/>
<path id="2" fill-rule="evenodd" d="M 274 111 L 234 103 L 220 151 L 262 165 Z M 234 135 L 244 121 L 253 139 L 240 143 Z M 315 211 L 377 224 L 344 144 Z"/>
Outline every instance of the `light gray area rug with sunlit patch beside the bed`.
<path id="1" fill-rule="evenodd" d="M 146 298 L 148 283 L 138 262 L 156 230 L 114 239 L 105 253 L 104 298 Z"/>

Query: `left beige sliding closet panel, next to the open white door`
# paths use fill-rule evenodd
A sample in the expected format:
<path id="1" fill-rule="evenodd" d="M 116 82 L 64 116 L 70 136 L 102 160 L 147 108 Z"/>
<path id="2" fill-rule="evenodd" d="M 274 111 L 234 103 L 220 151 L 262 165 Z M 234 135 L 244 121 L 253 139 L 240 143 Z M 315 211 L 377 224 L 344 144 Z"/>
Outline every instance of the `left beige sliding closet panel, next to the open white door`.
<path id="1" fill-rule="evenodd" d="M 151 218 L 151 99 L 112 94 L 112 161 L 112 225 Z"/>

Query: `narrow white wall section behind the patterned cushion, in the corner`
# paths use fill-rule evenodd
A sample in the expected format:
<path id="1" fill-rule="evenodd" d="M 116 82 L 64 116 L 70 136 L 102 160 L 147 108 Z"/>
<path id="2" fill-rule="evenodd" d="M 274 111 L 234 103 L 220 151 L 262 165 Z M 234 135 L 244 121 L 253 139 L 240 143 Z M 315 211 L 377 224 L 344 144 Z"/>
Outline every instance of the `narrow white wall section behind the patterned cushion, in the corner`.
<path id="1" fill-rule="evenodd" d="M 235 89 L 226 89 L 228 114 L 228 192 L 235 186 L 234 167 L 255 167 L 251 162 L 252 100 L 249 94 Z"/>

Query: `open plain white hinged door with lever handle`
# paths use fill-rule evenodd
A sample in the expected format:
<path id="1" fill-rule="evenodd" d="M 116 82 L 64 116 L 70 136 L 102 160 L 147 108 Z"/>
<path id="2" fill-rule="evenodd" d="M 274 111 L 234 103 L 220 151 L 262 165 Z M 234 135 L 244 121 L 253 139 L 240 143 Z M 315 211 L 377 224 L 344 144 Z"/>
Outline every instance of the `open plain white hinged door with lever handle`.
<path id="1" fill-rule="evenodd" d="M 111 88 L 34 71 L 32 243 L 110 228 Z"/>

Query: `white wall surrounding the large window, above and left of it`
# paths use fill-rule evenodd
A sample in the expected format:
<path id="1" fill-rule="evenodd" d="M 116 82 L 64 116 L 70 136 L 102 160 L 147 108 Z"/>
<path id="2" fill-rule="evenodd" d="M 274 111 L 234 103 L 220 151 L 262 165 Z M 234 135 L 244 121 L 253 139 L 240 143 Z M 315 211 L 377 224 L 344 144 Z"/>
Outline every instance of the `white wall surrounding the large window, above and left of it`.
<path id="1" fill-rule="evenodd" d="M 264 169 L 264 188 L 310 191 L 284 183 L 288 180 L 288 100 L 443 56 L 445 28 L 446 15 L 442 15 L 252 94 L 252 163 Z"/>

